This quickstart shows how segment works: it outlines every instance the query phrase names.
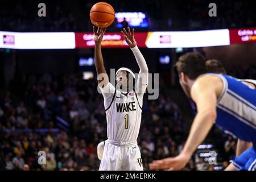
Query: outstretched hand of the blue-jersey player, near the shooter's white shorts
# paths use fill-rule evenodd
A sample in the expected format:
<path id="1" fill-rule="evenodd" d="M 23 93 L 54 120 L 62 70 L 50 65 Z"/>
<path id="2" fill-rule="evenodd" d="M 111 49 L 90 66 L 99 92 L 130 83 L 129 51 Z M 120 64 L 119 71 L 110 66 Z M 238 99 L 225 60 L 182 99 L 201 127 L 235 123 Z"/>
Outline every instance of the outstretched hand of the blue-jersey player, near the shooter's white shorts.
<path id="1" fill-rule="evenodd" d="M 151 170 L 164 169 L 169 171 L 175 171 L 182 169 L 186 166 L 188 158 L 183 155 L 178 155 L 175 158 L 166 158 L 162 160 L 153 160 L 149 167 Z"/>

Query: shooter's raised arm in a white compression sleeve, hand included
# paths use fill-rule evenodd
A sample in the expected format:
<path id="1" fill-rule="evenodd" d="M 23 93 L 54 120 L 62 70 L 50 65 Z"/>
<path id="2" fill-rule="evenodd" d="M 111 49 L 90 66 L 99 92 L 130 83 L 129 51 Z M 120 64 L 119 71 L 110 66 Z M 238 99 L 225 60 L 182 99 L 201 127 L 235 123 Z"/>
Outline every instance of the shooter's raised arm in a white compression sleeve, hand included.
<path id="1" fill-rule="evenodd" d="M 128 31 L 128 32 L 127 32 Z M 122 35 L 125 37 L 126 43 L 130 46 L 131 51 L 133 51 L 135 59 L 139 65 L 139 75 L 138 75 L 138 81 L 136 85 L 137 92 L 144 93 L 147 84 L 148 84 L 148 68 L 146 60 L 144 59 L 141 51 L 139 51 L 139 48 L 137 47 L 136 41 L 134 39 L 134 28 L 132 32 L 130 31 L 130 27 L 127 27 L 127 31 L 125 28 L 123 28 Z"/>

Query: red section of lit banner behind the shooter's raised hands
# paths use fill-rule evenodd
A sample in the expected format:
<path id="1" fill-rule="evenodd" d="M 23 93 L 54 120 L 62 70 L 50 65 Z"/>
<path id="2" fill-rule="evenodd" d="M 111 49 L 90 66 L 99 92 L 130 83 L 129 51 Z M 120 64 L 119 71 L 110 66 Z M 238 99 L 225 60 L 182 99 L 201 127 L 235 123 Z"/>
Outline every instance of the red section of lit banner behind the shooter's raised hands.
<path id="1" fill-rule="evenodd" d="M 138 47 L 146 47 L 147 32 L 135 33 L 135 40 Z M 93 32 L 75 33 L 76 48 L 94 48 Z M 126 48 L 128 45 L 125 42 L 121 32 L 106 32 L 102 43 L 105 48 Z"/>

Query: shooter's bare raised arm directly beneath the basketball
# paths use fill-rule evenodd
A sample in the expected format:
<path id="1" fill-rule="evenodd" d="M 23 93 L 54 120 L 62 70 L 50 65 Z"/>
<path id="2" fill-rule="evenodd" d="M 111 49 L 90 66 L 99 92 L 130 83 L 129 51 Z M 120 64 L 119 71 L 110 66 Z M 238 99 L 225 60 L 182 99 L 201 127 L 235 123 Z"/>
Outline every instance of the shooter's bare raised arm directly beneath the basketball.
<path id="1" fill-rule="evenodd" d="M 93 26 L 93 34 L 94 34 L 94 42 L 95 42 L 94 62 L 95 62 L 95 67 L 97 71 L 97 76 L 101 74 L 100 77 L 102 77 L 102 80 L 98 80 L 99 86 L 102 85 L 102 87 L 106 86 L 109 83 L 109 77 L 106 74 L 104 61 L 101 53 L 101 42 L 105 34 L 105 31 L 106 31 L 106 28 L 98 28 L 98 30 L 96 31 L 96 27 Z"/>

